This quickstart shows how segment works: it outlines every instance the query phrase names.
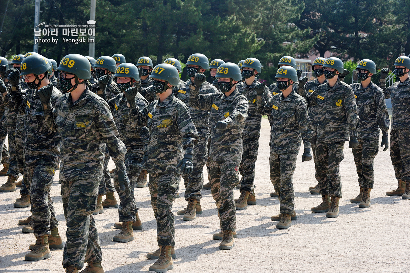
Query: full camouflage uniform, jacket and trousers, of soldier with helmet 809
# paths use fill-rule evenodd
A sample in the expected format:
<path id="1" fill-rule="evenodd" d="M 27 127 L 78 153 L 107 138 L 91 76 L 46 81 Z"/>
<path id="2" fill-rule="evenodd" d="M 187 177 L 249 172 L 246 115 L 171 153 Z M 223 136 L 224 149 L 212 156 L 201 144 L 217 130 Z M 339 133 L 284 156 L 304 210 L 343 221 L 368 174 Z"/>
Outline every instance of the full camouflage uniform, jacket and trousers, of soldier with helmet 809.
<path id="1" fill-rule="evenodd" d="M 339 164 L 343 160 L 344 142 L 357 137 L 359 116 L 352 88 L 337 79 L 333 87 L 323 83 L 307 96 L 308 105 L 318 107 L 315 177 L 320 193 L 342 197 Z M 350 132 L 350 133 L 349 133 Z"/>

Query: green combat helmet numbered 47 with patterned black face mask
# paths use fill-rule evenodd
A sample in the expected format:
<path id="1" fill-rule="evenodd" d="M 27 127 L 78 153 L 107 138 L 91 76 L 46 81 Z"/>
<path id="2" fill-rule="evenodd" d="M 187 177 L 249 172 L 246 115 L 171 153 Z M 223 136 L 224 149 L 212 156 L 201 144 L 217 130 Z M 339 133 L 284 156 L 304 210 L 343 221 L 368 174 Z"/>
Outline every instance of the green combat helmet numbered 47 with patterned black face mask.
<path id="1" fill-rule="evenodd" d="M 161 94 L 169 89 L 168 83 L 173 86 L 179 84 L 179 73 L 176 67 L 172 64 L 157 64 L 151 75 L 150 78 L 153 79 L 153 89 L 155 94 Z M 158 80 L 165 80 L 164 82 Z"/>

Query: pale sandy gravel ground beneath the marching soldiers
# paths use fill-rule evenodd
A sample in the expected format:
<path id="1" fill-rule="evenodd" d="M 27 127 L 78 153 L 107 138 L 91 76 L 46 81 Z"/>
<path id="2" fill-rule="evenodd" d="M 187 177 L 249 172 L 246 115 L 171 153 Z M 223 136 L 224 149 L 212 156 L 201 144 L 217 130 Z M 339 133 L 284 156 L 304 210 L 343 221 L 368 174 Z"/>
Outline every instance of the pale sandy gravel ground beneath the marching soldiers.
<path id="1" fill-rule="evenodd" d="M 375 159 L 375 186 L 371 191 L 371 207 L 360 209 L 348 202 L 359 192 L 357 174 L 351 150 L 345 145 L 341 163 L 343 197 L 340 216 L 326 218 L 325 213 L 312 213 L 310 208 L 321 202 L 320 195 L 311 195 L 314 163 L 301 162 L 299 154 L 294 174 L 295 209 L 298 219 L 292 227 L 276 229 L 270 217 L 279 213 L 279 201 L 269 197 L 273 186 L 269 180 L 269 123 L 263 119 L 259 157 L 256 163 L 255 189 L 257 204 L 237 211 L 237 232 L 232 250 L 219 250 L 220 241 L 212 240 L 219 232 L 216 206 L 210 190 L 203 190 L 203 214 L 194 221 L 182 221 L 176 211 L 186 206 L 184 185 L 182 198 L 174 202 L 176 255 L 171 272 L 409 272 L 410 201 L 386 196 L 397 187 L 389 152 L 380 149 Z M 113 163 L 110 163 L 113 167 Z M 206 168 L 205 183 L 207 182 Z M 1 177 L 3 184 L 7 177 Z M 51 189 L 59 231 L 65 241 L 66 223 L 58 184 L 58 171 Z M 235 189 L 235 198 L 239 190 Z M 30 208 L 13 207 L 19 191 L 0 193 L 0 272 L 64 272 L 62 250 L 52 250 L 52 257 L 39 262 L 26 262 L 28 245 L 33 234 L 21 232 L 19 219 L 30 215 Z M 118 233 L 113 225 L 118 221 L 116 209 L 105 209 L 95 216 L 103 248 L 105 272 L 128 273 L 148 271 L 153 260 L 146 253 L 157 249 L 156 223 L 148 188 L 135 190 L 143 230 L 135 231 L 129 243 L 112 241 Z M 117 195 L 118 199 L 118 195 Z"/>

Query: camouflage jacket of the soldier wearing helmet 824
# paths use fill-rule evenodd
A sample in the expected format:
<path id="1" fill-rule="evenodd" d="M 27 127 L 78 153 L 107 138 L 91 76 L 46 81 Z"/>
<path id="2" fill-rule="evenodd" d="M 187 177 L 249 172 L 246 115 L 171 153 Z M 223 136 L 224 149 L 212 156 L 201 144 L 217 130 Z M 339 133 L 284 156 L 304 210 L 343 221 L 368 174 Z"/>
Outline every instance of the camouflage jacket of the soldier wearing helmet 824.
<path id="1" fill-rule="evenodd" d="M 298 154 L 301 140 L 305 148 L 310 148 L 312 123 L 305 99 L 295 90 L 286 98 L 282 94 L 273 95 L 265 103 L 264 112 L 273 118 L 270 143 L 275 154 Z"/>

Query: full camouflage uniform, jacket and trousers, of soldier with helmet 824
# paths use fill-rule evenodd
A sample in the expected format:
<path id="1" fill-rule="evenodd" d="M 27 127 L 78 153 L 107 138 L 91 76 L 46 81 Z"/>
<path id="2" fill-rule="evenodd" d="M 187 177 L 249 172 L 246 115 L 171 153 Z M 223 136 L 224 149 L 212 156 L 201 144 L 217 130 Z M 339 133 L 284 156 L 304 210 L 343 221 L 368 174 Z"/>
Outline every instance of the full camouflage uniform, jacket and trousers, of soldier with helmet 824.
<path id="1" fill-rule="evenodd" d="M 269 99 L 264 110 L 273 118 L 271 154 L 269 157 L 270 178 L 279 193 L 280 213 L 292 215 L 295 209 L 293 173 L 301 147 L 310 148 L 313 127 L 307 114 L 305 99 L 294 90 L 284 98 L 276 94 Z"/>

